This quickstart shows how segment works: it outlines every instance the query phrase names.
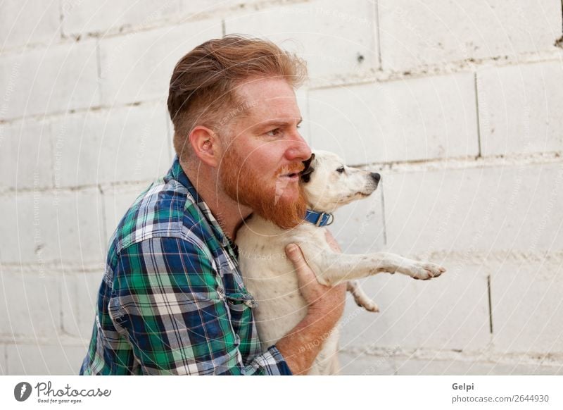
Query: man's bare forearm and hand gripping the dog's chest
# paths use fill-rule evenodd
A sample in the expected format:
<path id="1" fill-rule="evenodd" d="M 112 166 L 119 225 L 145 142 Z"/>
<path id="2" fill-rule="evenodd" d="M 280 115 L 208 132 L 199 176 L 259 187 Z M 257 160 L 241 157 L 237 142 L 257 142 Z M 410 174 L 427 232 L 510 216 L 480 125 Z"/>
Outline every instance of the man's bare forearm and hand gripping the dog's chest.
<path id="1" fill-rule="evenodd" d="M 334 251 L 340 251 L 329 231 L 327 240 Z M 322 349 L 322 341 L 342 316 L 346 302 L 346 283 L 328 287 L 317 282 L 315 273 L 295 244 L 286 247 L 286 254 L 296 268 L 299 290 L 309 307 L 303 321 L 282 337 L 276 347 L 293 374 L 306 374 Z"/>

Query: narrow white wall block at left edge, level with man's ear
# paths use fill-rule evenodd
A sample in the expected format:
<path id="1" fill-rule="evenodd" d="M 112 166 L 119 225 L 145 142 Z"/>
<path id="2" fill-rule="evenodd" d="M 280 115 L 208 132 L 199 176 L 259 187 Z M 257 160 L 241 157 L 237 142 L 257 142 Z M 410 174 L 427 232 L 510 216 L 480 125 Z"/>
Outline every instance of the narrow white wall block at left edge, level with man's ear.
<path id="1" fill-rule="evenodd" d="M 0 125 L 0 187 L 53 186 L 49 127 L 35 120 Z"/>

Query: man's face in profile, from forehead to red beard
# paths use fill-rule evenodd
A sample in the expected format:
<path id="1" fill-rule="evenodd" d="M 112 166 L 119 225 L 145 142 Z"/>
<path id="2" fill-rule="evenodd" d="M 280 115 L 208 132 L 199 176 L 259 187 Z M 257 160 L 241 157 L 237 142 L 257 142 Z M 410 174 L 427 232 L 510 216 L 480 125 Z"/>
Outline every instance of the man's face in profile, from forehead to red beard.
<path id="1" fill-rule="evenodd" d="M 237 92 L 243 105 L 232 108 L 241 114 L 224 136 L 222 187 L 262 218 L 293 228 L 305 215 L 307 201 L 298 173 L 311 156 L 298 132 L 301 113 L 293 89 L 279 77 L 254 78 Z"/>

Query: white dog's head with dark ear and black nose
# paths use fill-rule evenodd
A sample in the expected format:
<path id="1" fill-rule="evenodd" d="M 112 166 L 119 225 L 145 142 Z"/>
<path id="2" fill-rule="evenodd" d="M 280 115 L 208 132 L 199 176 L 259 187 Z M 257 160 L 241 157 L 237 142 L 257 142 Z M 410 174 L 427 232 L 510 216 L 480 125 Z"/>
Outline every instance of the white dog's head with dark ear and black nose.
<path id="1" fill-rule="evenodd" d="M 355 199 L 374 192 L 381 179 L 378 173 L 351 168 L 336 154 L 315 151 L 301 173 L 301 184 L 313 211 L 332 212 Z"/>

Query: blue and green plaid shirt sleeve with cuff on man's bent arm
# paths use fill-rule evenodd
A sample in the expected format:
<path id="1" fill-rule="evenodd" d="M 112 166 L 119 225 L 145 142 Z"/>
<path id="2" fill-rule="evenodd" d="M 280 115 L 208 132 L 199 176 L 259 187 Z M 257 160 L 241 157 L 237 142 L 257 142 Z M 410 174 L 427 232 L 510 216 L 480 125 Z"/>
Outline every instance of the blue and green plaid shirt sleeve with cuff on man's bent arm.
<path id="1" fill-rule="evenodd" d="M 152 238 L 120 253 L 109 311 L 141 373 L 291 374 L 274 346 L 243 365 L 220 289 L 208 254 L 187 240 Z"/>

